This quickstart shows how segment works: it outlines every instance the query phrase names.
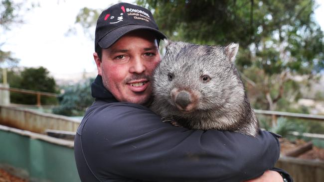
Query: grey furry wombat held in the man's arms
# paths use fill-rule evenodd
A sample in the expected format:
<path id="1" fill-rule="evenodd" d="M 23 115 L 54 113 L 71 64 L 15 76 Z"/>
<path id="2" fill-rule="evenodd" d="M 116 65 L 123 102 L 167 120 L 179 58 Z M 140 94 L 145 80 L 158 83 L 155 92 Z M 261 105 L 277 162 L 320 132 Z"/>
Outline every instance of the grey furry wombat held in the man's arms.
<path id="1" fill-rule="evenodd" d="M 239 45 L 166 44 L 153 74 L 150 108 L 189 129 L 256 136 L 259 122 L 233 64 Z"/>

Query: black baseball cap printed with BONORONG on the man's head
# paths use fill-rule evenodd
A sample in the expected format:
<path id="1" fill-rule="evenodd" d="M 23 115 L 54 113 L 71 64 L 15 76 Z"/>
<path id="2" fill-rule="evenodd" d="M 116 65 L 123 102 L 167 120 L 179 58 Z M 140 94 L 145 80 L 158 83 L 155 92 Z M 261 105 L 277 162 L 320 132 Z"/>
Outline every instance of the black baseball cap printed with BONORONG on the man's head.
<path id="1" fill-rule="evenodd" d="M 97 52 L 98 46 L 106 49 L 126 33 L 140 29 L 152 30 L 158 40 L 166 38 L 159 31 L 150 10 L 125 2 L 112 5 L 97 20 L 95 51 Z"/>

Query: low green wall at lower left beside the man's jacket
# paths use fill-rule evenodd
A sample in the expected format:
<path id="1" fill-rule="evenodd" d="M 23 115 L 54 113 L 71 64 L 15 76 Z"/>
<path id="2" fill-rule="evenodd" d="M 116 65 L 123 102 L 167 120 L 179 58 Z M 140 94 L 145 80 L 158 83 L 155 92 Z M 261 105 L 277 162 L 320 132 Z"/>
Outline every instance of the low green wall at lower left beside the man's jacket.
<path id="1" fill-rule="evenodd" d="M 28 172 L 33 182 L 80 182 L 73 148 L 0 130 L 0 164 Z"/>

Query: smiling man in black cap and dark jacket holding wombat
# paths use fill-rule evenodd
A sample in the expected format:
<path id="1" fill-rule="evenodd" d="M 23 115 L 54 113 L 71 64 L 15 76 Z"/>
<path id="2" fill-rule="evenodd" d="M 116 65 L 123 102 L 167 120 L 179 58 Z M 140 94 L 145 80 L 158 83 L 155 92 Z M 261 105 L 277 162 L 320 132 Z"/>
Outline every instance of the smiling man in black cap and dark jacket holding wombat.
<path id="1" fill-rule="evenodd" d="M 276 135 L 174 127 L 145 106 L 164 38 L 143 7 L 118 3 L 99 16 L 98 77 L 91 86 L 96 101 L 75 136 L 81 181 L 282 182 L 279 173 L 290 180 L 273 168 L 280 153 Z"/>

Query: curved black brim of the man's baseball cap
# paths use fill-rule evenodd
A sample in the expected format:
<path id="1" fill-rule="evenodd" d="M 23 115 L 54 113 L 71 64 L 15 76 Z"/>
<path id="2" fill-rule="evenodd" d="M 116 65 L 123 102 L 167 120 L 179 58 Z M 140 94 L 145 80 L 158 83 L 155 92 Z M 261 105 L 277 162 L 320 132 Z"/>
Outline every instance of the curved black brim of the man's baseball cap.
<path id="1" fill-rule="evenodd" d="M 101 48 L 106 49 L 113 45 L 119 38 L 121 38 L 123 35 L 125 35 L 128 32 L 134 31 L 134 30 L 152 30 L 154 33 L 156 33 L 158 39 L 165 39 L 166 36 L 160 32 L 159 30 L 155 28 L 151 28 L 148 26 L 142 26 L 142 25 L 126 25 L 119 27 L 108 34 L 106 34 L 101 40 L 99 40 L 98 44 Z"/>

